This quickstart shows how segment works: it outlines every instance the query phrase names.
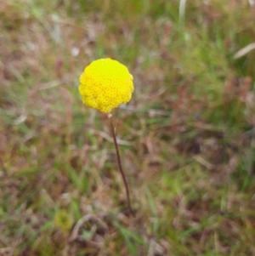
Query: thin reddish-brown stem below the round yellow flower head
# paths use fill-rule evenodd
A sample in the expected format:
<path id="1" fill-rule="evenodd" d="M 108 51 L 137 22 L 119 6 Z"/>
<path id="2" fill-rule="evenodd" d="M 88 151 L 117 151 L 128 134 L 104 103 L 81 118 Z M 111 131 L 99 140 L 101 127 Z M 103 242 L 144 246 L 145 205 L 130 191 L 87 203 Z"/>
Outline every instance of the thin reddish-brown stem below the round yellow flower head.
<path id="1" fill-rule="evenodd" d="M 126 188 L 128 212 L 129 212 L 129 214 L 132 214 L 134 216 L 132 208 L 131 208 L 131 203 L 130 203 L 127 179 L 126 179 L 125 174 L 124 174 L 123 169 L 122 169 L 121 156 L 120 156 L 119 148 L 118 148 L 118 145 L 117 145 L 117 142 L 116 142 L 116 134 L 115 134 L 115 131 L 114 131 L 112 115 L 109 114 L 108 118 L 110 120 L 111 133 L 112 133 L 112 137 L 113 137 L 113 140 L 114 140 L 114 145 L 115 145 L 115 149 L 116 149 L 116 156 L 117 156 L 117 160 L 118 160 L 119 169 L 120 169 L 120 172 L 122 174 L 122 179 L 123 179 L 123 182 L 124 182 L 124 185 L 125 185 L 125 188 Z"/>

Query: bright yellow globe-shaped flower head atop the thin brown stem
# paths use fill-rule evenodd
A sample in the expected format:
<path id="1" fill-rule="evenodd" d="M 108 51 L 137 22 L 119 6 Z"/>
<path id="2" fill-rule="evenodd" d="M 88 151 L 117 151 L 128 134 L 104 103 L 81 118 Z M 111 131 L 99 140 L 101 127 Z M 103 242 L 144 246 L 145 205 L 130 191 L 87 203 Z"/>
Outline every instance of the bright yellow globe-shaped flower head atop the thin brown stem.
<path id="1" fill-rule="evenodd" d="M 133 76 L 116 60 L 94 60 L 80 77 L 79 92 L 84 105 L 109 113 L 131 99 Z"/>

